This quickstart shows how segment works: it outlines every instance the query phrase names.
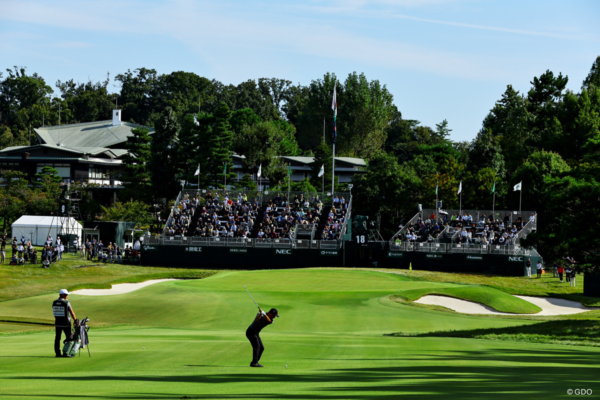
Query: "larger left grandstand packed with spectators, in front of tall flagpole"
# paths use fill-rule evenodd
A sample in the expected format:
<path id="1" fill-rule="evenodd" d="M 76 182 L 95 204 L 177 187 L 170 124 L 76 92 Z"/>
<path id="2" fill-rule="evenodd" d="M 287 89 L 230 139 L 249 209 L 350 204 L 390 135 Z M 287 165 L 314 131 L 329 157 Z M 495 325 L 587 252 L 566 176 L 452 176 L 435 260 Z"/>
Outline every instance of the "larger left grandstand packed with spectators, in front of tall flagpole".
<path id="1" fill-rule="evenodd" d="M 260 249 L 257 262 L 263 267 L 272 258 L 266 257 L 267 249 L 275 249 L 275 255 L 302 251 L 308 258 L 337 255 L 351 212 L 349 193 L 183 190 L 163 234 L 144 236 L 142 249 L 161 249 L 169 254 L 181 253 L 179 248 L 184 253 L 202 252 L 203 260 L 179 254 L 183 264 L 203 264 L 219 258 L 223 261 L 224 250 L 230 254 L 259 254 Z M 152 256 L 154 260 L 160 258 L 158 254 Z M 294 260 L 299 266 L 307 263 L 302 257 Z"/>

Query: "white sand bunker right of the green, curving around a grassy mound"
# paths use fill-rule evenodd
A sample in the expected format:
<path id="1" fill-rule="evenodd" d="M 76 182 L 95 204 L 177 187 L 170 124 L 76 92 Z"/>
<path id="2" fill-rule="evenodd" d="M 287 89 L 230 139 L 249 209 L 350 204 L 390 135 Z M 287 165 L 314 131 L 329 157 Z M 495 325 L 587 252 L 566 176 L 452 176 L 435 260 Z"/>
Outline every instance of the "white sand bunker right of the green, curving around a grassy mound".
<path id="1" fill-rule="evenodd" d="M 571 300 L 554 299 L 553 297 L 530 297 L 530 296 L 515 296 L 535 304 L 542 311 L 537 314 L 526 315 L 568 315 L 577 314 L 584 311 L 592 311 L 599 308 L 590 308 L 581 305 L 579 302 Z M 423 296 L 421 299 L 415 300 L 415 303 L 430 304 L 443 306 L 454 311 L 463 312 L 464 314 L 502 314 L 502 315 L 524 315 L 511 314 L 509 312 L 500 312 L 490 306 L 470 302 L 468 300 L 455 299 L 454 297 L 446 296 Z"/>

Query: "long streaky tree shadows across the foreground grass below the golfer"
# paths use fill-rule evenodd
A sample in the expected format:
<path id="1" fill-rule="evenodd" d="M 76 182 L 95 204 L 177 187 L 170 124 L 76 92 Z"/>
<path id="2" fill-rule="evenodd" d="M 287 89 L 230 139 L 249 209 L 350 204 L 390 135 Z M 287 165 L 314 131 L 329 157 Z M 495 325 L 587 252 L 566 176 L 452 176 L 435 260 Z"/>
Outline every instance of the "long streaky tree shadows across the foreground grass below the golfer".
<path id="1" fill-rule="evenodd" d="M 415 361 L 415 359 L 418 359 Z M 422 359 L 428 359 L 423 362 Z M 67 394 L 69 398 L 89 399 L 397 399 L 398 396 L 434 400 L 481 398 L 565 398 L 571 387 L 600 390 L 598 352 L 568 350 L 510 350 L 506 348 L 410 354 L 405 359 L 386 359 L 387 365 L 367 368 L 333 368 L 323 370 L 269 372 L 260 368 L 249 372 L 193 375 L 88 375 L 88 376 L 19 376 L 7 380 L 30 380 L 39 385 L 44 380 L 64 381 L 65 387 L 77 387 L 89 381 L 160 383 L 148 386 L 148 393 Z M 340 359 L 340 361 L 344 361 Z M 397 366 L 390 366 L 394 362 Z M 539 366 L 551 366 L 551 373 L 540 374 Z M 212 368 L 212 367 L 209 367 Z M 247 367 L 250 369 L 250 367 Z M 206 371 L 209 372 L 209 371 Z M 165 384 L 199 384 L 197 393 L 163 393 Z M 249 386 L 250 385 L 250 386 Z M 152 393 L 152 387 L 162 392 Z M 174 388 L 176 386 L 173 386 Z M 262 388 L 262 389 L 253 389 Z M 115 392 L 118 388 L 113 389 Z M 175 389 L 176 390 L 176 389 Z M 260 390 L 256 393 L 255 390 Z M 29 395 L 6 393 L 11 398 Z M 218 393 L 224 392 L 224 393 Z M 31 395 L 56 398 L 57 395 Z"/>

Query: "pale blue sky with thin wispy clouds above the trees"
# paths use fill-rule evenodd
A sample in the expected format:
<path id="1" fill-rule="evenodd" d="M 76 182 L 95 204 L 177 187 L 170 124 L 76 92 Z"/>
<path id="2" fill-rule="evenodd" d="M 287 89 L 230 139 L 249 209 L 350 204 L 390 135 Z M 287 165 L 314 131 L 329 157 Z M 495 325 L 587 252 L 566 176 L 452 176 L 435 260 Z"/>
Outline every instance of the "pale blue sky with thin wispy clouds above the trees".
<path id="1" fill-rule="evenodd" d="M 594 0 L 0 0 L 0 10 L 1 70 L 25 66 L 50 85 L 139 67 L 234 85 L 357 71 L 387 86 L 403 118 L 447 119 L 452 140 L 472 140 L 508 84 L 526 93 L 549 69 L 578 92 L 600 55 Z"/>

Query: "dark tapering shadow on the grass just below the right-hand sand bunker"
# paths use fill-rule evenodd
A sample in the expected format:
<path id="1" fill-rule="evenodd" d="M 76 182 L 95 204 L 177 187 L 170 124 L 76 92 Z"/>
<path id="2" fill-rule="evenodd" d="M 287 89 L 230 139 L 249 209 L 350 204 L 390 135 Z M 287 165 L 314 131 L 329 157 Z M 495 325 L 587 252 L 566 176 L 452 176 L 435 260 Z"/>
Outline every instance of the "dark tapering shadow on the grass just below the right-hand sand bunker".
<path id="1" fill-rule="evenodd" d="M 385 336 L 498 339 L 529 343 L 600 347 L 600 320 L 554 320 L 503 328 L 451 330 L 426 333 L 397 332 L 389 333 Z"/>

